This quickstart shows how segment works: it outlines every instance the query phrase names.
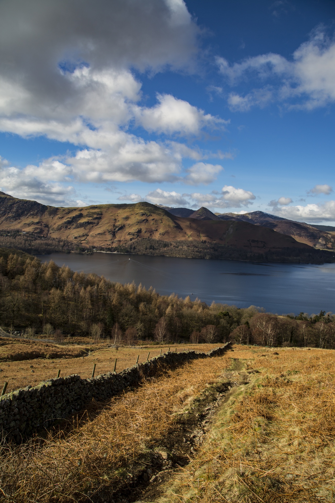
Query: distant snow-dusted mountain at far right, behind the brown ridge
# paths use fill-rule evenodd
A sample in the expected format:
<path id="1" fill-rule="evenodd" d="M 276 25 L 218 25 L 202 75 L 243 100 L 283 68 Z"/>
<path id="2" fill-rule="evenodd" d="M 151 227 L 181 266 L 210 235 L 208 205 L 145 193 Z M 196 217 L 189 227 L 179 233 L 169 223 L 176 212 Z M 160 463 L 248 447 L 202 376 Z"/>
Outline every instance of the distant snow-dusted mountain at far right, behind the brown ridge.
<path id="1" fill-rule="evenodd" d="M 313 226 L 304 222 L 295 222 L 286 218 L 277 217 L 264 211 L 252 211 L 243 215 L 237 213 L 216 213 L 221 220 L 250 222 L 274 229 L 281 234 L 293 237 L 296 241 L 308 244 L 314 248 L 335 249 L 335 235 L 330 234 L 323 226 Z M 334 229 L 335 230 L 335 229 Z"/>

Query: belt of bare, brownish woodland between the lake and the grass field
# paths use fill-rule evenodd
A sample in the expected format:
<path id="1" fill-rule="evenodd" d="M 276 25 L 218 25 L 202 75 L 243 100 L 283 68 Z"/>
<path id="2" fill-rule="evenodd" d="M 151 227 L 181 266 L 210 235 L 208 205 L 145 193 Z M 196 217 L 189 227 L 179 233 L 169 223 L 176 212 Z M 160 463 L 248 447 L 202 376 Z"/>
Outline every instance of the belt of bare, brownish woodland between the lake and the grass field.
<path id="1" fill-rule="evenodd" d="M 335 348 L 335 315 L 277 315 L 255 306 L 210 306 L 175 294 L 159 295 L 134 283 L 41 263 L 23 251 L 0 248 L 0 325 L 22 336 L 58 341 L 86 336 L 132 346 L 235 341 L 261 346 Z"/>

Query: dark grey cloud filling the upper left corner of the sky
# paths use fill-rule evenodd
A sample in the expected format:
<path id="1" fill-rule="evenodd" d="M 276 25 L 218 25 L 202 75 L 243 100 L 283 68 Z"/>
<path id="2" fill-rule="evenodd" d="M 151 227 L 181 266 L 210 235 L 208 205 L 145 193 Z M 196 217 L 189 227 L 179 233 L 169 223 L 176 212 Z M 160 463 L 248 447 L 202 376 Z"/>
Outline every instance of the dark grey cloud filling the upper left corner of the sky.
<path id="1" fill-rule="evenodd" d="M 197 33 L 181 0 L 3 0 L 0 74 L 57 105 L 71 93 L 59 65 L 180 68 Z"/>

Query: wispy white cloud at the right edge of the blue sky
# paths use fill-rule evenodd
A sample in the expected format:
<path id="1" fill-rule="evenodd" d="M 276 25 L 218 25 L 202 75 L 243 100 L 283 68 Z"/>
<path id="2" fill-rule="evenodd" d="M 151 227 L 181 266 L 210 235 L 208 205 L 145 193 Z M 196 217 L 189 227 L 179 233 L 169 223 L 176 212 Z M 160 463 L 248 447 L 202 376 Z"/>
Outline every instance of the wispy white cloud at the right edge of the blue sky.
<path id="1" fill-rule="evenodd" d="M 254 89 L 245 96 L 232 93 L 228 99 L 232 110 L 248 111 L 274 100 L 288 108 L 312 110 L 335 101 L 335 42 L 321 28 L 298 47 L 292 60 L 268 53 L 232 65 L 217 57 L 216 63 L 231 86 L 255 78 L 271 81 L 271 86 Z"/>

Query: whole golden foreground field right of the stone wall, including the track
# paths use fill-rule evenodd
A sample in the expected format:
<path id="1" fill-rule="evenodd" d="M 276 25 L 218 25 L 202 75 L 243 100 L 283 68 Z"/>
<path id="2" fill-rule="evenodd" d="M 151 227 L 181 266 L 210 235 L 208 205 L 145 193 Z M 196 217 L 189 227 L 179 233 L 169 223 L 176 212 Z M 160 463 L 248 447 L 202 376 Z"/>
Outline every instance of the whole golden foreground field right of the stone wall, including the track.
<path id="1" fill-rule="evenodd" d="M 332 501 L 335 354 L 234 345 L 22 445 L 3 501 Z"/>

